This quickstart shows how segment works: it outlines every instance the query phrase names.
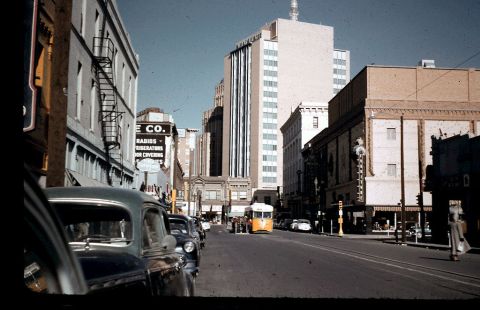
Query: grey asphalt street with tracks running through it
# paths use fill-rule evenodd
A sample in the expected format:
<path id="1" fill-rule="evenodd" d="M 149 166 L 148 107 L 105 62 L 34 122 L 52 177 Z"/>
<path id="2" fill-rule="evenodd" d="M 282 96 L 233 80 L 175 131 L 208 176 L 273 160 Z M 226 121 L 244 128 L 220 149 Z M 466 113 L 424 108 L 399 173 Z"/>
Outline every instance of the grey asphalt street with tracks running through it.
<path id="1" fill-rule="evenodd" d="M 478 299 L 480 255 L 274 230 L 232 234 L 213 225 L 197 296 Z"/>

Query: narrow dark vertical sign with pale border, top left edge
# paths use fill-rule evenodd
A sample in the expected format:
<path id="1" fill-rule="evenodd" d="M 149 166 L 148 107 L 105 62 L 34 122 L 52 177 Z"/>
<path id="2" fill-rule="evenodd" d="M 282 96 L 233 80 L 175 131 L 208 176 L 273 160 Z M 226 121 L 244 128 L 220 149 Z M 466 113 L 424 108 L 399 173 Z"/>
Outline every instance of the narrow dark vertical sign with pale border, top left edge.
<path id="1" fill-rule="evenodd" d="M 37 89 L 35 88 L 35 42 L 38 0 L 24 1 L 23 49 L 23 131 L 35 128 Z"/>

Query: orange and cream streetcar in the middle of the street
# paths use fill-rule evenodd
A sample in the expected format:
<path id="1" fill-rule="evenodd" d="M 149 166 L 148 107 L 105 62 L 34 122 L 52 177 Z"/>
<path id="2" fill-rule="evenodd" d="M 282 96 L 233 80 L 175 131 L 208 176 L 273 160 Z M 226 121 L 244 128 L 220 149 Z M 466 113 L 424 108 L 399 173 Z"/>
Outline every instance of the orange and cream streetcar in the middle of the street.
<path id="1" fill-rule="evenodd" d="M 273 231 L 273 206 L 261 202 L 245 208 L 250 233 L 270 233 Z"/>

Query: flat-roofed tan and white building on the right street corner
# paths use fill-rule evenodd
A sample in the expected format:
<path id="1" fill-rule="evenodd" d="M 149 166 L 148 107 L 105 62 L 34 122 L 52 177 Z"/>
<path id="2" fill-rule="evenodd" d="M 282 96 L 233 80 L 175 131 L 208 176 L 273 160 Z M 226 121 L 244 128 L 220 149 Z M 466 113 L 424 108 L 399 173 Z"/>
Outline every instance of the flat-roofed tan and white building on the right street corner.
<path id="1" fill-rule="evenodd" d="M 432 163 L 430 137 L 479 135 L 479 80 L 479 69 L 365 67 L 329 101 L 328 128 L 303 149 L 305 209 L 325 213 L 325 229 L 330 220 L 338 229 L 340 200 L 346 232 L 398 226 L 403 141 L 405 222 L 420 222 L 417 195 L 432 221 L 437 206 L 422 188 Z"/>

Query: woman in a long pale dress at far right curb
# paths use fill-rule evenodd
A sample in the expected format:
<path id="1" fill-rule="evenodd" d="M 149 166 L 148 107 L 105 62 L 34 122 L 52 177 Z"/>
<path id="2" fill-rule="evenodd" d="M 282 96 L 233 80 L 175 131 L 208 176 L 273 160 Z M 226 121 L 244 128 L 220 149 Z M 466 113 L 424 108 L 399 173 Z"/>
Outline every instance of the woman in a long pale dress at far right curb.
<path id="1" fill-rule="evenodd" d="M 458 255 L 465 254 L 471 247 L 463 235 L 462 207 L 459 205 L 451 206 L 449 208 L 449 222 L 450 226 L 450 260 L 459 261 Z"/>

